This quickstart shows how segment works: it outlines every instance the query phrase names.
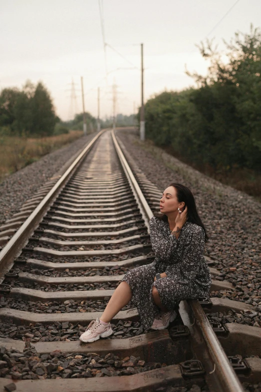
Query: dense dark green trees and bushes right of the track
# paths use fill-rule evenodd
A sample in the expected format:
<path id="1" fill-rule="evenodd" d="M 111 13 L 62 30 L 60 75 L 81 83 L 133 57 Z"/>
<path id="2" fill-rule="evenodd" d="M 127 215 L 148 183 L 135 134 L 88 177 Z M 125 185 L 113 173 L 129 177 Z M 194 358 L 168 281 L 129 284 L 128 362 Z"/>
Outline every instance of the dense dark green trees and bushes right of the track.
<path id="1" fill-rule="evenodd" d="M 210 60 L 206 77 L 186 71 L 198 88 L 146 102 L 146 137 L 198 167 L 260 171 L 261 34 L 251 26 L 224 44 L 226 62 L 212 42 L 198 46 Z"/>

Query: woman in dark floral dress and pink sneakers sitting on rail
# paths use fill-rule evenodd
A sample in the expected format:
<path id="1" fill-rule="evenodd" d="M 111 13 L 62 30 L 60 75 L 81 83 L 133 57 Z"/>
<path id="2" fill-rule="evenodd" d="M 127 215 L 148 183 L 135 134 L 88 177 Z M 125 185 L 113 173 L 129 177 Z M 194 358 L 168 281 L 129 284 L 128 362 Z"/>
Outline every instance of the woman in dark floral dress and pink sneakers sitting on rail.
<path id="1" fill-rule="evenodd" d="M 155 259 L 123 277 L 101 317 L 80 336 L 83 342 L 111 335 L 110 320 L 131 299 L 145 329 L 164 329 L 176 316 L 180 300 L 206 295 L 211 278 L 203 257 L 208 239 L 190 190 L 171 183 L 160 199 L 160 213 L 150 219 Z"/>

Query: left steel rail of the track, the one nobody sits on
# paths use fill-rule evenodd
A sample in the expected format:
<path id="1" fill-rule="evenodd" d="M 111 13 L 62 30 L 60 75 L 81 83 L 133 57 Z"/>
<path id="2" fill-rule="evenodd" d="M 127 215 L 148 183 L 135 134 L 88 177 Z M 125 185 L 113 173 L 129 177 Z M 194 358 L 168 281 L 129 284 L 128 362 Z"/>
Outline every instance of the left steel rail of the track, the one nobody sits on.
<path id="1" fill-rule="evenodd" d="M 33 233 L 35 227 L 39 224 L 43 215 L 50 205 L 58 196 L 64 185 L 68 182 L 75 170 L 81 164 L 87 153 L 93 147 L 94 142 L 106 130 L 100 131 L 87 144 L 82 152 L 77 156 L 74 162 L 69 166 L 65 173 L 59 178 L 55 185 L 50 189 L 47 195 L 40 201 L 37 207 L 32 211 L 24 223 L 19 227 L 13 237 L 6 243 L 0 251 L 0 282 L 4 279 L 4 274 L 11 268 L 13 260 L 20 254 L 22 248 L 27 243 L 28 238 Z"/>

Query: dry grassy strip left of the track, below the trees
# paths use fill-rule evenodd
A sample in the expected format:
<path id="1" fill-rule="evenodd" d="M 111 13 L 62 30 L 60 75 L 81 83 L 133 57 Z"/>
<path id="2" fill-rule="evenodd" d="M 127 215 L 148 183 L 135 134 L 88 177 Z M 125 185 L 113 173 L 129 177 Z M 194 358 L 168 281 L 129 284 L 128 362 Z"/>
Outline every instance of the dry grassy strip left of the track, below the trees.
<path id="1" fill-rule="evenodd" d="M 82 131 L 45 138 L 0 136 L 0 182 L 11 173 L 37 161 L 58 148 L 82 136 Z"/>

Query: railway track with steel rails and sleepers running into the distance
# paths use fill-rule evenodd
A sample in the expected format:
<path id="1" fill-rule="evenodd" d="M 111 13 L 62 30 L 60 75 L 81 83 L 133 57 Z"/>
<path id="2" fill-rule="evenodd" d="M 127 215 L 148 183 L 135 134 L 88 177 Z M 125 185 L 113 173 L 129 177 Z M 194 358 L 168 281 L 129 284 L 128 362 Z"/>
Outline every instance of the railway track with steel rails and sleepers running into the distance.
<path id="1" fill-rule="evenodd" d="M 153 332 L 142 328 L 128 304 L 112 320 L 112 336 L 79 342 L 123 274 L 153 260 L 148 222 L 160 192 L 118 142 L 110 131 L 96 135 L 65 173 L 0 228 L 0 243 L 13 234 L 0 252 L 0 390 L 238 392 L 243 382 L 258 387 L 259 328 L 208 320 L 215 312 L 252 314 L 242 302 L 181 301 L 179 317 Z M 233 290 L 210 269 L 211 290 Z"/>

